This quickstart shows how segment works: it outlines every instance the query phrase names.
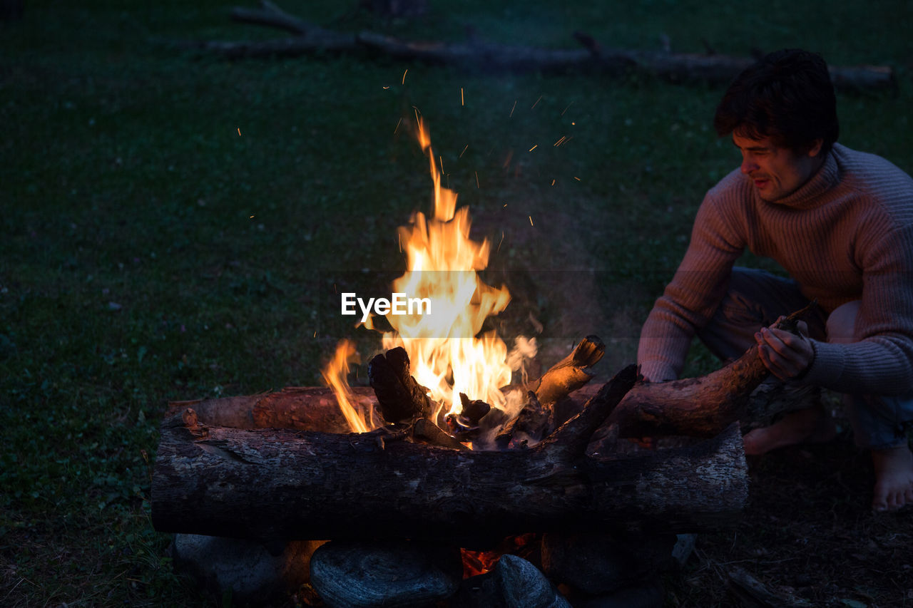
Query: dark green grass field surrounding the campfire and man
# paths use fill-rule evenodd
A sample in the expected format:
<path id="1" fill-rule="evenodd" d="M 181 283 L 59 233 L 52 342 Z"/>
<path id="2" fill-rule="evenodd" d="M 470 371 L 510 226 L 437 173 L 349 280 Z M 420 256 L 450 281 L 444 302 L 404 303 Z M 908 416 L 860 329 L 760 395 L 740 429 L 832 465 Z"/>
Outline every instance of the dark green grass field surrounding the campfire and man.
<path id="1" fill-rule="evenodd" d="M 572 47 L 585 30 L 614 47 L 656 49 L 668 37 L 681 52 L 703 41 L 741 56 L 806 47 L 837 65 L 888 65 L 896 90 L 841 93 L 840 141 L 913 172 L 907 2 L 428 4 L 425 16 L 392 22 L 354 0 L 283 7 L 409 38 L 459 40 L 472 28 Z M 230 62 L 163 43 L 282 36 L 232 24 L 230 7 L 26 0 L 24 19 L 0 23 L 2 605 L 212 602 L 174 575 L 170 538 L 150 524 L 163 408 L 317 385 L 338 339 L 355 338 L 364 361 L 379 347 L 327 294 L 377 288 L 404 267 L 396 228 L 431 193 L 406 128 L 415 110 L 470 206 L 473 235 L 498 244 L 491 276 L 515 289 L 503 327 L 530 332 L 529 315 L 539 320 L 545 365 L 601 335 L 613 345 L 604 376 L 633 361 L 704 191 L 738 162 L 710 128 L 719 87 L 386 58 Z M 562 136 L 572 139 L 552 145 Z M 688 371 L 713 364 L 696 349 Z M 790 466 L 767 466 L 791 483 Z M 853 530 L 847 543 L 867 540 L 853 537 L 860 530 L 908 540 L 888 556 L 894 586 L 884 551 L 857 550 L 871 564 L 861 571 L 832 555 L 815 576 L 836 586 L 817 605 L 913 605 L 901 569 L 913 564 L 908 518 L 866 519 L 864 475 L 848 487 L 792 481 Z M 791 540 L 767 513 L 750 513 L 755 535 L 698 544 L 669 605 L 725 605 L 724 566 L 759 545 L 767 557 L 755 558 L 776 576 L 777 548 Z"/>

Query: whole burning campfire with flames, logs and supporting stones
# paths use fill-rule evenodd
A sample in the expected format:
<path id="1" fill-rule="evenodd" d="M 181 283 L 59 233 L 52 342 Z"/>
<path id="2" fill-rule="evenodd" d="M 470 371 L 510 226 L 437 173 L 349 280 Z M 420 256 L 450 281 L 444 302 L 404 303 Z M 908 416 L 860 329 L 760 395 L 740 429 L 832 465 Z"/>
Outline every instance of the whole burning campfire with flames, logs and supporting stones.
<path id="1" fill-rule="evenodd" d="M 387 316 L 370 388 L 346 382 L 356 349 L 341 341 L 323 370 L 330 388 L 170 404 L 156 529 L 330 540 L 310 558 L 325 605 L 525 608 L 569 605 L 559 584 L 576 597 L 622 592 L 668 566 L 676 534 L 738 521 L 747 475 L 736 421 L 777 412 L 750 407 L 767 375 L 757 352 L 673 383 L 644 383 L 629 366 L 591 390 L 605 347 L 587 336 L 528 381 L 535 342 L 518 337 L 509 352 L 481 332 L 510 295 L 479 278 L 488 242 L 469 238 L 421 121 L 418 132 L 434 212 L 400 229 L 407 269 L 394 303 L 375 310 L 396 294 L 430 310 Z M 647 435 L 707 440 L 617 449 L 619 437 Z"/>

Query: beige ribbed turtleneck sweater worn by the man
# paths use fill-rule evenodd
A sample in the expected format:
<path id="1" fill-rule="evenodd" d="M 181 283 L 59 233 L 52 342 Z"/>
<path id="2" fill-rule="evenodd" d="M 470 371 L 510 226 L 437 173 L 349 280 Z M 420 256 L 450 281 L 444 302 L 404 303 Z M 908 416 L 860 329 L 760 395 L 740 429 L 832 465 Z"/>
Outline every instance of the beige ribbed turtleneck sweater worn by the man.
<path id="1" fill-rule="evenodd" d="M 913 392 L 913 179 L 840 144 L 808 183 L 776 203 L 762 201 L 738 169 L 708 192 L 685 257 L 641 331 L 645 377 L 678 376 L 745 247 L 776 260 L 826 313 L 862 300 L 858 341 L 814 341 L 803 383 L 842 393 Z"/>

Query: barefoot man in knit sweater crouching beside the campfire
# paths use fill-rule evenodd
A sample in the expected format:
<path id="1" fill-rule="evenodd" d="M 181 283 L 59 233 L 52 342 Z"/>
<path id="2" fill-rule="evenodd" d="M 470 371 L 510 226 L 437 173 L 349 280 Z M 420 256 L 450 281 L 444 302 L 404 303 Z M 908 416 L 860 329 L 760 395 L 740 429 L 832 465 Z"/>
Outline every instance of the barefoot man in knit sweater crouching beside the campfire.
<path id="1" fill-rule="evenodd" d="M 855 441 L 875 465 L 872 507 L 913 504 L 913 180 L 836 143 L 827 66 L 806 51 L 778 51 L 744 70 L 714 126 L 731 133 L 741 166 L 698 210 L 687 253 L 641 332 L 642 373 L 676 379 L 695 334 L 724 360 L 756 344 L 783 382 L 845 393 Z M 746 247 L 790 278 L 734 267 Z M 765 327 L 811 299 L 820 314 L 804 335 Z M 819 405 L 751 431 L 745 450 L 833 435 Z"/>

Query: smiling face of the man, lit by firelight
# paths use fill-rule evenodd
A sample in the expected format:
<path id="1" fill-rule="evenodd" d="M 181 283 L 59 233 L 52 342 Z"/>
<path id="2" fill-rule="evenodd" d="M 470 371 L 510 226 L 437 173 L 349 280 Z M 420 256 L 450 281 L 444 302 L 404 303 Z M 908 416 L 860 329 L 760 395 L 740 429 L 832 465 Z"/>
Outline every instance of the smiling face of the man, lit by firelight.
<path id="1" fill-rule="evenodd" d="M 823 162 L 821 140 L 805 153 L 783 148 L 770 138 L 752 140 L 736 133 L 732 142 L 742 154 L 741 172 L 749 177 L 761 199 L 776 202 L 799 189 Z"/>

